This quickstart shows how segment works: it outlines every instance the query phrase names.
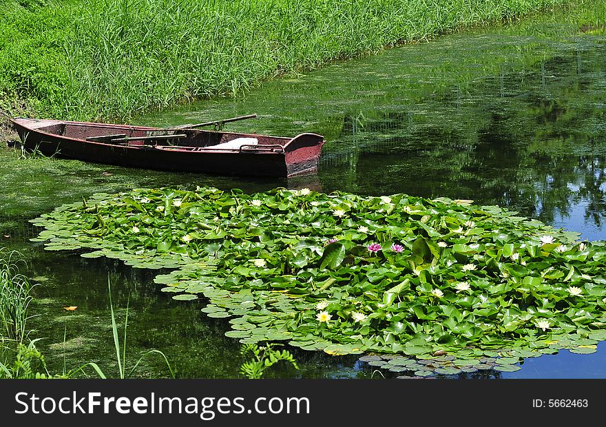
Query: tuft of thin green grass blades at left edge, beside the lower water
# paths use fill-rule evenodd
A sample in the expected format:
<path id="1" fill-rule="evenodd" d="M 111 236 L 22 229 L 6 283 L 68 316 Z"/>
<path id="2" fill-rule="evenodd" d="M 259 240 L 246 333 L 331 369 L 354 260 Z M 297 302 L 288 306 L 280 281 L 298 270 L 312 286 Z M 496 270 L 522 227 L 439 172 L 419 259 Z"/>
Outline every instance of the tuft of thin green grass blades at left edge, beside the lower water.
<path id="1" fill-rule="evenodd" d="M 0 340 L 21 343 L 28 335 L 28 306 L 33 297 L 32 285 L 19 273 L 21 254 L 0 248 Z"/>

